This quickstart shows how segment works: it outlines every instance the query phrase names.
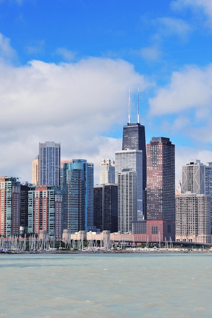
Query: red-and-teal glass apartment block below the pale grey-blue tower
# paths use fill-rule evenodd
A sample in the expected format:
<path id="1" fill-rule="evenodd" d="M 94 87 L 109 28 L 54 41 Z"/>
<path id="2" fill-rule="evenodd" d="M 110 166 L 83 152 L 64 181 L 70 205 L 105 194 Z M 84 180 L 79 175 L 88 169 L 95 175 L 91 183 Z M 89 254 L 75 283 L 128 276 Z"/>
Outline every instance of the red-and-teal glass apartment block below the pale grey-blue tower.
<path id="1" fill-rule="evenodd" d="M 28 191 L 28 233 L 62 238 L 62 191 L 55 185 L 36 185 Z M 46 231 L 46 232 L 45 232 Z"/>

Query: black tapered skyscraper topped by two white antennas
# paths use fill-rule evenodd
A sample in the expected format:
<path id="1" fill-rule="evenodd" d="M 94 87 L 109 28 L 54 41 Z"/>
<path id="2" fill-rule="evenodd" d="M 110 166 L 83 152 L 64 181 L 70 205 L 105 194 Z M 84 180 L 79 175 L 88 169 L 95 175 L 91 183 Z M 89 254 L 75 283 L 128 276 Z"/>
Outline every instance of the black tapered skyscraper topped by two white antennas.
<path id="1" fill-rule="evenodd" d="M 129 98 L 129 116 L 128 123 L 123 128 L 123 143 L 122 150 L 142 150 L 142 172 L 143 172 L 143 214 L 146 215 L 146 140 L 145 140 L 145 127 L 140 124 L 139 118 L 139 91 L 138 91 L 138 107 L 137 107 L 137 122 L 130 122 L 130 98 Z M 132 167 L 129 167 L 132 168 Z"/>

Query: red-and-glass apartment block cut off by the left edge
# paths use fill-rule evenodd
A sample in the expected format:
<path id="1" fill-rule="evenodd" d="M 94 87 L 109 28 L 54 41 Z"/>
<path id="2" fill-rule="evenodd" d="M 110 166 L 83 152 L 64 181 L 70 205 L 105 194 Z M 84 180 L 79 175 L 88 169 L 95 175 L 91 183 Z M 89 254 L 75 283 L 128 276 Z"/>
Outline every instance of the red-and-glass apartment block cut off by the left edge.
<path id="1" fill-rule="evenodd" d="M 0 177 L 0 234 L 6 237 L 20 231 L 21 184 L 15 177 Z"/>

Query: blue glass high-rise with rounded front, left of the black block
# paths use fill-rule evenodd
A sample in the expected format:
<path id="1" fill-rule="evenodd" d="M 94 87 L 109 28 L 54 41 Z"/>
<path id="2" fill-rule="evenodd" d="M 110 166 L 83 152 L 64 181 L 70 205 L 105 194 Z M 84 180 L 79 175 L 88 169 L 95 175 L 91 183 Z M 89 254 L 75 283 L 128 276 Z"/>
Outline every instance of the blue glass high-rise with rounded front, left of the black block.
<path id="1" fill-rule="evenodd" d="M 63 227 L 77 231 L 94 228 L 94 164 L 73 159 L 63 165 Z"/>

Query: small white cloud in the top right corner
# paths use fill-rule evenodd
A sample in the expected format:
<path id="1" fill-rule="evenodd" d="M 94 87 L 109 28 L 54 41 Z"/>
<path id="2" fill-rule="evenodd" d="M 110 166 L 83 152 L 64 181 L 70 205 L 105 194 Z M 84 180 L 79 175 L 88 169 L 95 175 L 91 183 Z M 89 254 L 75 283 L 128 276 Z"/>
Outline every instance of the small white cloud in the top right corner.
<path id="1" fill-rule="evenodd" d="M 212 2 L 211 0 L 176 0 L 171 2 L 171 8 L 181 10 L 191 8 L 196 17 L 200 18 L 205 23 L 204 17 L 207 18 L 207 25 L 212 28 Z M 204 17 L 202 17 L 204 13 Z"/>

